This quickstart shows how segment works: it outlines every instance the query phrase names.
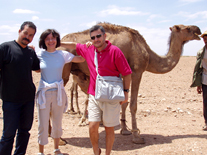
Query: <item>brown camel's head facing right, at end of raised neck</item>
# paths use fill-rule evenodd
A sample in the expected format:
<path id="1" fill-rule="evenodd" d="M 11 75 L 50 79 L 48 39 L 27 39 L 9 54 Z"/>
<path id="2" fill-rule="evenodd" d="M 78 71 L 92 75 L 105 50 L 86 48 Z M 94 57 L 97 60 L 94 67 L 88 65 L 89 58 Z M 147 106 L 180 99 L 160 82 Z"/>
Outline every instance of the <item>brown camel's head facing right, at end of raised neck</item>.
<path id="1" fill-rule="evenodd" d="M 175 25 L 173 27 L 170 27 L 170 30 L 172 33 L 174 32 L 179 35 L 180 39 L 183 42 L 187 42 L 189 40 L 200 40 L 200 37 L 198 35 L 201 35 L 201 31 L 197 26 Z"/>

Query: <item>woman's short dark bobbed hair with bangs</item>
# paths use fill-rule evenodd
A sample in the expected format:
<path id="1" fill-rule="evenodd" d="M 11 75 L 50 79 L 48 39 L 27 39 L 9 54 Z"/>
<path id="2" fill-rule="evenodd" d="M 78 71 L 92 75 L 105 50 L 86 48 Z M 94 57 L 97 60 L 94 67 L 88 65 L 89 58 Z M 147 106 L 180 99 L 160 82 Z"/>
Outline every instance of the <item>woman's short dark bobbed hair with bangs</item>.
<path id="1" fill-rule="evenodd" d="M 45 45 L 45 38 L 47 38 L 47 36 L 50 33 L 52 33 L 53 37 L 56 37 L 56 40 L 57 40 L 56 48 L 60 46 L 60 34 L 55 29 L 47 29 L 40 36 L 40 39 L 39 39 L 39 47 L 40 48 L 47 50 L 47 46 Z"/>

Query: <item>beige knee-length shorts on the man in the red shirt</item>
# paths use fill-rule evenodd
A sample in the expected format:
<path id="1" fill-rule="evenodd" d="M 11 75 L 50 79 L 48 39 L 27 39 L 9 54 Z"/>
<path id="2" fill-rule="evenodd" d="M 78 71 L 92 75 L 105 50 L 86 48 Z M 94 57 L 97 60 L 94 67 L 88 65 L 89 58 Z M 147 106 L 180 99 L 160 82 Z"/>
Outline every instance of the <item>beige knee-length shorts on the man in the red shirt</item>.
<path id="1" fill-rule="evenodd" d="M 89 94 L 88 102 L 88 121 L 100 122 L 106 127 L 114 127 L 119 125 L 121 105 L 118 102 L 108 103 L 99 102 L 95 97 Z"/>

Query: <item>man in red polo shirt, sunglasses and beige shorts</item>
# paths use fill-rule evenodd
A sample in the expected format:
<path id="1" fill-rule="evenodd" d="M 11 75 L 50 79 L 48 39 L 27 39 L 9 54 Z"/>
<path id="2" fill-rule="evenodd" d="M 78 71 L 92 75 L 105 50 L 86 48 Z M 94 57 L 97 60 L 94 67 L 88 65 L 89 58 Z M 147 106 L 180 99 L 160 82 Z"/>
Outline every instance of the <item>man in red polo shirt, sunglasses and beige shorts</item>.
<path id="1" fill-rule="evenodd" d="M 102 26 L 95 25 L 90 29 L 92 46 L 87 47 L 86 44 L 74 42 L 62 42 L 61 46 L 69 49 L 76 49 L 77 54 L 84 57 L 87 61 L 90 71 L 90 83 L 88 88 L 89 105 L 88 105 L 88 121 L 89 134 L 95 155 L 99 155 L 101 150 L 98 146 L 99 133 L 98 128 L 103 119 L 103 125 L 106 131 L 106 155 L 109 155 L 114 143 L 114 126 L 119 125 L 121 104 L 128 101 L 128 92 L 131 82 L 131 68 L 124 57 L 122 51 L 106 40 L 106 33 Z M 95 51 L 98 59 L 98 72 L 101 76 L 123 76 L 125 101 L 121 103 L 106 103 L 95 100 L 95 83 L 96 83 L 96 67 L 94 64 Z"/>

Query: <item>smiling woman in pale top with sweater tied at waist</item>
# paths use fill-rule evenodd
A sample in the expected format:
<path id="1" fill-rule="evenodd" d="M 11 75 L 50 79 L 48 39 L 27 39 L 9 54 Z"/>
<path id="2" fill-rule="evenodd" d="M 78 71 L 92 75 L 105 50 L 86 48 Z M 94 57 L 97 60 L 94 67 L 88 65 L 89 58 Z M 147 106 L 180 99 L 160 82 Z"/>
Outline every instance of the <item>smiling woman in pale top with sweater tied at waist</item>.
<path id="1" fill-rule="evenodd" d="M 43 51 L 37 53 L 40 59 L 41 79 L 37 91 L 38 106 L 38 155 L 44 155 L 44 145 L 48 143 L 48 123 L 52 121 L 51 137 L 54 138 L 54 155 L 62 155 L 58 149 L 62 135 L 62 116 L 67 109 L 67 95 L 62 80 L 65 63 L 84 62 L 81 56 L 56 50 L 60 46 L 60 35 L 54 29 L 44 31 L 39 40 Z"/>

